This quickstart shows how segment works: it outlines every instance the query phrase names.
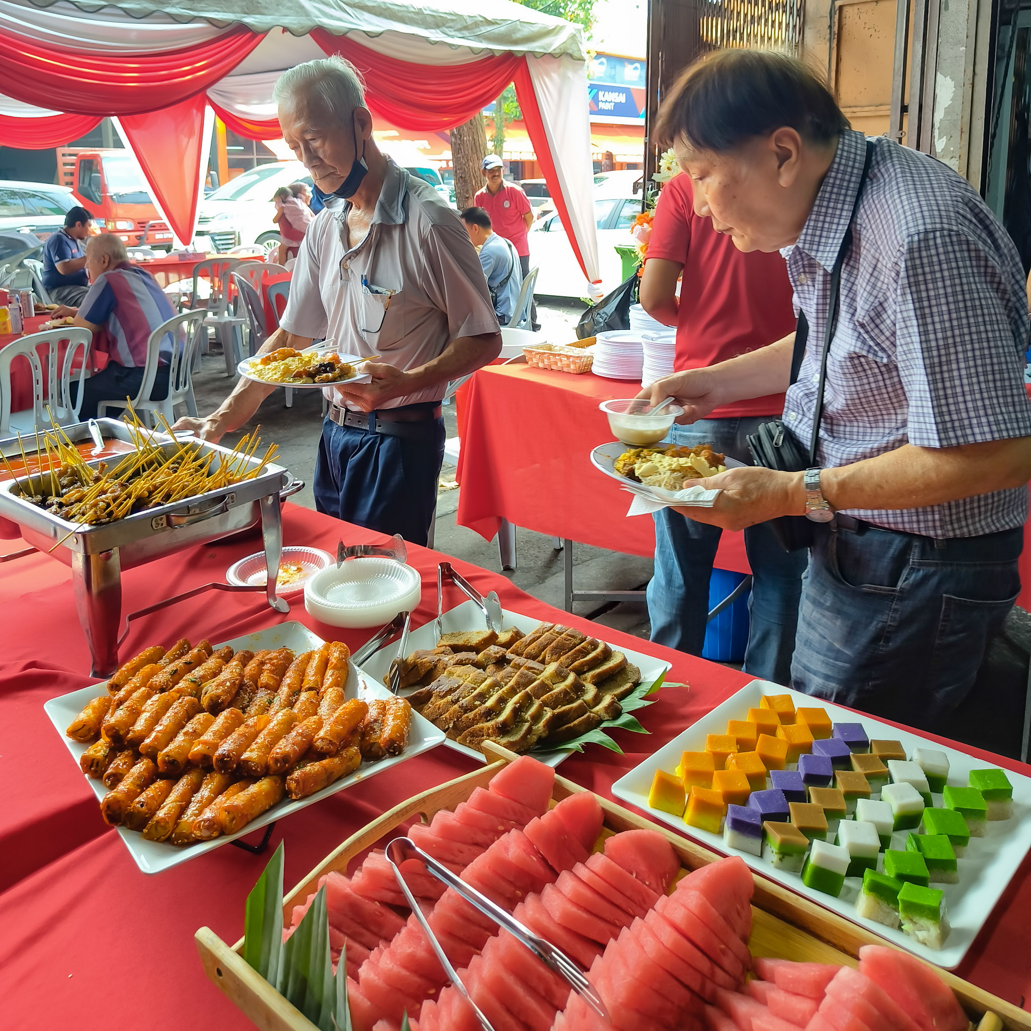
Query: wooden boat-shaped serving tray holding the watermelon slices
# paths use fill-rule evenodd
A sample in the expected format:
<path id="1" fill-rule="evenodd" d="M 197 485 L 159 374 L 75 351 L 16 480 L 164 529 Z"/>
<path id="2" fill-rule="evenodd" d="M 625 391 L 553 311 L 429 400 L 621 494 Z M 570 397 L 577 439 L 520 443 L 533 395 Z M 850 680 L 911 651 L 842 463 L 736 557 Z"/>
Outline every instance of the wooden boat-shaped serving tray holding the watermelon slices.
<path id="1" fill-rule="evenodd" d="M 495 761 L 483 769 L 431 788 L 385 812 L 377 820 L 352 835 L 331 852 L 284 899 L 284 923 L 289 924 L 293 907 L 315 891 L 319 878 L 337 870 L 346 873 L 347 864 L 394 828 L 417 813 L 427 822 L 439 809 L 454 809 L 465 801 L 475 788 L 486 788 L 494 774 L 517 756 L 491 741 L 485 750 Z M 553 799 L 558 802 L 568 795 L 585 791 L 578 785 L 556 775 Z M 714 863 L 723 857 L 703 845 L 665 830 L 643 817 L 598 796 L 604 812 L 599 844 L 610 834 L 626 830 L 654 830 L 664 835 L 673 846 L 684 867 L 683 874 Z M 681 875 L 683 875 L 681 874 Z M 884 938 L 838 917 L 823 906 L 789 889 L 754 873 L 755 895 L 752 899 L 753 923 L 749 947 L 754 956 L 808 963 L 836 963 L 856 966 L 856 957 L 863 945 L 888 945 Z M 240 957 L 241 938 L 234 945 L 224 942 L 212 930 L 202 927 L 194 936 L 201 962 L 208 977 L 262 1031 L 319 1031 L 306 1017 L 288 1002 L 264 977 Z M 894 947 L 894 946 L 892 946 Z M 928 964 L 956 993 L 978 1031 L 1031 1031 L 1031 1013 L 985 992 L 955 974 Z M 978 1023 L 979 1022 L 979 1023 Z"/>

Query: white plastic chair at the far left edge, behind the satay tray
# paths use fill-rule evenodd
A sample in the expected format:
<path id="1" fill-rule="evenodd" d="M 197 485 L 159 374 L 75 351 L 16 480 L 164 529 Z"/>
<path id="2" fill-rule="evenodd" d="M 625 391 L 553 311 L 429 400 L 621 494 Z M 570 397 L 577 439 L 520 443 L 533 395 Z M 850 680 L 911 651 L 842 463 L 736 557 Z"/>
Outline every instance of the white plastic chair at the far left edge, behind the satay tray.
<path id="1" fill-rule="evenodd" d="M 12 436 L 15 432 L 32 433 L 36 429 L 42 430 L 48 427 L 51 421 L 46 414 L 47 406 L 59 423 L 78 422 L 78 411 L 82 406 L 82 384 L 86 380 L 86 366 L 92 340 L 93 334 L 88 329 L 65 326 L 61 329 L 48 329 L 42 333 L 23 336 L 0 350 L 0 436 Z M 62 342 L 65 342 L 63 355 Z M 40 354 L 44 344 L 47 348 L 45 358 Z M 81 364 L 78 370 L 78 392 L 73 404 L 71 372 L 76 356 Z M 11 412 L 10 366 L 16 358 L 27 361 L 32 369 L 32 408 Z"/>

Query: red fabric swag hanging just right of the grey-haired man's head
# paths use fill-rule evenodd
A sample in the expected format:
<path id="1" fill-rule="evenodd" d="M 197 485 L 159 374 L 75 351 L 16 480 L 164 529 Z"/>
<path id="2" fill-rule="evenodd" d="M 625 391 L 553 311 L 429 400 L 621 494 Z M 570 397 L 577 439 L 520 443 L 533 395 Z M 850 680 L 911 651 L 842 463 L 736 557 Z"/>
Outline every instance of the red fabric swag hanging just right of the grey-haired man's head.
<path id="1" fill-rule="evenodd" d="M 311 38 L 327 54 L 339 54 L 358 68 L 368 87 L 369 110 L 399 129 L 434 132 L 468 122 L 526 67 L 525 58 L 516 54 L 463 65 L 419 65 L 384 57 L 325 29 L 312 29 Z"/>

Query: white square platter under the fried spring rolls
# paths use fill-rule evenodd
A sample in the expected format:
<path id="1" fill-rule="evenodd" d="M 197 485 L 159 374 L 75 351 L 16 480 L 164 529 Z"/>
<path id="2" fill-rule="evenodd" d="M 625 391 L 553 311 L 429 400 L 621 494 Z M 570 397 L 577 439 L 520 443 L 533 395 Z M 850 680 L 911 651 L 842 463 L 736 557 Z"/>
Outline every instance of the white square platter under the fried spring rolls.
<path id="1" fill-rule="evenodd" d="M 254 634 L 246 634 L 243 637 L 237 637 L 231 641 L 226 641 L 224 644 L 217 645 L 213 648 L 213 653 L 214 656 L 217 657 L 220 650 L 225 647 L 233 648 L 235 655 L 239 655 L 239 653 L 241 652 L 250 652 L 257 654 L 262 651 L 275 652 L 276 650 L 288 648 L 290 650 L 291 653 L 297 656 L 301 656 L 305 652 L 311 652 L 321 648 L 325 643 L 326 642 L 323 641 L 321 637 L 318 637 L 315 634 L 313 634 L 310 630 L 307 629 L 307 627 L 303 626 L 300 623 L 290 622 L 290 623 L 281 623 L 278 626 L 269 628 L 268 630 L 262 630 Z M 228 667 L 226 668 L 228 669 Z M 346 678 L 345 680 L 343 680 L 343 676 L 341 673 L 340 680 L 342 683 L 342 687 L 340 684 L 337 684 L 332 689 L 327 689 L 327 692 L 328 690 L 333 690 L 336 692 L 342 691 L 342 696 L 338 694 L 338 697 L 342 697 L 344 699 L 344 705 L 339 706 L 339 708 L 336 711 L 342 711 L 345 705 L 348 705 L 356 699 L 363 701 L 366 704 L 372 702 L 386 702 L 388 703 L 388 705 L 393 705 L 393 703 L 397 702 L 397 699 L 394 698 L 394 696 L 391 695 L 391 693 L 386 688 L 384 688 L 380 684 L 375 683 L 375 680 L 371 679 L 370 677 L 363 675 L 363 673 L 353 663 L 351 663 L 350 660 L 347 662 Z M 242 690 L 244 690 L 244 688 L 240 689 L 240 691 Z M 76 718 L 79 716 L 79 713 L 84 710 L 84 708 L 88 705 L 89 702 L 91 702 L 93 699 L 106 696 L 108 696 L 107 681 L 101 680 L 97 684 L 91 685 L 90 687 L 82 688 L 79 691 L 73 691 L 70 694 L 62 695 L 59 698 L 52 698 L 43 705 L 43 708 L 46 711 L 46 714 L 49 717 L 51 722 L 54 724 L 55 729 L 61 735 L 65 744 L 67 744 L 68 751 L 69 753 L 71 753 L 72 759 L 74 759 L 75 762 L 79 763 L 80 765 L 82 765 L 84 753 L 86 753 L 88 749 L 91 747 L 91 745 L 85 741 L 80 742 L 72 740 L 71 738 L 66 736 L 65 733 L 66 728 L 68 728 L 73 723 L 73 721 L 76 720 Z M 203 698 L 203 695 L 201 695 L 201 697 Z M 239 697 L 239 695 L 237 695 L 237 697 Z M 298 702 L 297 704 L 299 705 L 300 702 Z M 233 707 L 232 705 L 229 705 L 223 711 L 224 712 L 230 711 L 232 707 Z M 355 706 L 351 704 L 348 711 L 354 711 L 354 710 Z M 394 709 L 392 709 L 391 711 L 393 713 Z M 400 710 L 398 710 L 398 712 L 400 712 Z M 203 714 L 204 714 L 204 709 L 202 708 L 197 713 L 197 716 L 203 717 Z M 215 717 L 215 719 L 218 720 L 218 717 Z M 241 719 L 240 721 L 235 721 L 235 718 L 233 718 L 232 722 L 235 723 L 237 729 L 246 726 L 248 723 L 248 721 L 243 719 Z M 189 724 L 187 726 L 189 727 Z M 325 730 L 325 725 L 323 726 L 323 730 Z M 320 733 L 322 732 L 323 731 L 320 731 Z M 130 830 L 127 826 L 118 826 L 117 830 L 119 832 L 119 835 L 122 837 L 122 840 L 125 842 L 126 847 L 129 850 L 129 854 L 132 856 L 133 860 L 135 861 L 136 865 L 140 868 L 140 870 L 142 870 L 144 873 L 160 873 L 163 870 L 168 870 L 171 869 L 173 866 L 177 866 L 179 863 L 185 863 L 187 860 L 195 859 L 198 856 L 202 856 L 205 853 L 210 852 L 212 849 L 218 849 L 220 845 L 223 845 L 228 841 L 233 841 L 244 834 L 251 834 L 253 831 L 259 830 L 260 828 L 265 827 L 267 824 L 272 823 L 273 821 L 280 820 L 285 817 L 289 817 L 291 813 L 296 812 L 298 809 L 302 809 L 305 806 L 311 805 L 314 802 L 319 802 L 322 799 L 328 797 L 329 795 L 333 795 L 338 791 L 343 791 L 346 788 L 350 788 L 352 785 L 358 784 L 360 780 L 364 780 L 370 776 L 375 776 L 377 773 L 383 773 L 386 770 L 393 769 L 399 763 L 403 763 L 408 759 L 412 759 L 415 756 L 422 755 L 424 752 L 428 752 L 430 749 L 436 747 L 436 745 L 440 744 L 443 741 L 443 737 L 444 735 L 440 731 L 438 731 L 436 727 L 428 723 L 418 713 L 410 712 L 410 723 L 408 723 L 406 742 L 403 743 L 403 745 L 401 745 L 400 737 L 398 737 L 396 740 L 396 744 L 401 745 L 401 751 L 398 754 L 392 755 L 390 754 L 390 752 L 388 752 L 388 754 L 384 758 L 374 761 L 362 759 L 361 757 L 355 757 L 360 759 L 360 765 L 358 765 L 357 768 L 355 768 L 353 764 L 347 764 L 351 765 L 350 772 L 345 772 L 342 775 L 339 775 L 338 779 L 329 783 L 326 787 L 321 788 L 321 790 L 314 791 L 312 794 L 305 795 L 304 797 L 300 797 L 297 799 L 292 799 L 289 796 L 289 794 L 286 795 L 285 797 L 282 797 L 280 801 L 275 802 L 275 804 L 271 805 L 271 807 L 264 809 L 264 811 L 259 812 L 253 819 L 248 820 L 246 823 L 240 826 L 240 828 L 236 830 L 234 833 L 220 833 L 218 836 L 208 840 L 196 840 L 193 841 L 192 843 L 176 845 L 168 843 L 164 840 L 148 839 L 143 836 L 141 831 Z M 168 758 L 168 756 L 176 754 L 175 742 L 181 741 L 182 739 L 184 738 L 181 734 L 176 735 L 173 738 L 172 742 L 168 745 L 169 751 L 165 757 L 166 759 Z M 199 741 L 201 739 L 198 738 L 197 740 Z M 348 738 L 347 740 L 351 739 Z M 319 747 L 318 738 L 315 738 L 312 743 L 314 747 L 317 749 Z M 344 744 L 341 745 L 338 751 L 339 758 L 341 759 L 341 766 L 343 765 L 342 761 L 344 753 L 348 751 L 345 747 L 346 743 L 347 741 L 344 741 Z M 187 741 L 185 747 L 189 746 L 190 742 Z M 184 752 L 182 747 L 178 747 L 177 751 L 179 753 L 182 753 L 182 755 L 186 755 L 186 752 Z M 391 749 L 390 751 L 393 751 L 393 749 Z M 246 753 L 244 752 L 244 755 Z M 217 752 L 213 753 L 213 755 L 215 756 L 215 758 L 218 758 Z M 161 763 L 162 761 L 162 756 L 160 753 L 158 755 L 157 761 L 159 763 Z M 118 762 L 118 760 L 115 760 L 115 762 Z M 139 762 L 138 755 L 135 760 L 126 760 L 126 765 L 128 765 L 130 762 L 132 762 L 133 764 L 138 764 Z M 113 766 L 114 764 L 110 763 L 109 765 Z M 193 764 L 187 760 L 184 760 L 178 772 L 169 773 L 167 776 L 162 776 L 161 773 L 159 773 L 159 775 L 156 778 L 149 780 L 148 784 L 149 786 L 153 786 L 157 784 L 158 780 L 170 780 L 173 785 L 175 785 L 178 783 L 176 778 L 178 777 L 185 780 L 186 779 L 185 774 L 189 773 L 192 768 L 195 768 Z M 288 774 L 287 775 L 288 784 L 290 783 L 289 780 L 290 772 L 303 774 L 303 770 L 306 767 L 303 766 L 295 766 L 292 771 L 284 770 L 284 773 Z M 211 774 L 212 771 L 210 770 L 210 767 L 208 767 L 203 772 L 206 780 L 207 776 Z M 199 779 L 198 774 L 194 774 L 194 776 L 197 776 Z M 239 771 L 236 770 L 227 773 L 226 776 L 230 778 L 229 784 L 231 784 L 233 783 L 233 778 L 238 779 L 240 777 L 240 774 Z M 98 802 L 102 802 L 104 798 L 111 793 L 109 789 L 105 787 L 105 785 L 100 779 L 88 776 L 87 781 L 93 789 L 94 794 L 97 796 Z M 244 783 L 244 780 L 238 779 L 238 783 Z M 228 786 L 228 784 L 226 786 Z M 299 788 L 303 787 L 303 778 L 302 781 L 299 783 L 297 786 Z M 308 787 L 310 786 L 311 781 L 308 781 Z M 147 790 L 149 790 L 149 788 Z M 201 791 L 203 790 L 204 788 L 202 787 Z M 211 786 L 211 790 L 213 791 L 213 785 Z M 137 797 L 141 798 L 142 796 L 137 796 Z M 132 799 L 132 801 L 135 800 L 136 800 L 135 798 Z M 129 807 L 131 808 L 131 805 Z M 163 808 L 164 808 L 164 802 L 160 802 L 155 816 L 162 813 Z M 187 812 L 189 810 L 187 810 Z M 176 831 L 179 829 L 179 826 L 185 822 L 182 820 L 182 816 L 184 813 L 180 812 L 177 818 L 172 819 L 173 824 L 175 824 Z"/>

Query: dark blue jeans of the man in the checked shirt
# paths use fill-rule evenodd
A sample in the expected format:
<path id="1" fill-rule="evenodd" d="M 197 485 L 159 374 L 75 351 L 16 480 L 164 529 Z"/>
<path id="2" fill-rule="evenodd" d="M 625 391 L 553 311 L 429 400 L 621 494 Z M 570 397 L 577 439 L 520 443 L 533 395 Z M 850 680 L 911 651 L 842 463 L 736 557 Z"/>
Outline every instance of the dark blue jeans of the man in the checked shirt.
<path id="1" fill-rule="evenodd" d="M 1017 599 L 1023 545 L 1023 528 L 934 540 L 819 526 L 792 687 L 933 731 L 969 694 Z"/>

